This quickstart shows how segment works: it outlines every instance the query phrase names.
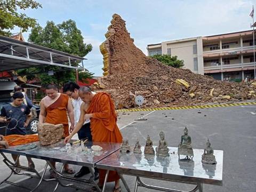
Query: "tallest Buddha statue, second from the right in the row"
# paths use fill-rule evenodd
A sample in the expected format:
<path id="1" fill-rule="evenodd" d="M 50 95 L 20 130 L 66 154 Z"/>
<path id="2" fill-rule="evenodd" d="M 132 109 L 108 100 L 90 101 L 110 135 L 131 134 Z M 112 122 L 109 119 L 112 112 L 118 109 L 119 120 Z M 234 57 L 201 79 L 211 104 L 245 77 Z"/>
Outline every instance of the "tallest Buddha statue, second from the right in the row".
<path id="1" fill-rule="evenodd" d="M 186 155 L 186 159 L 193 159 L 194 152 L 191 146 L 191 137 L 188 135 L 188 129 L 185 127 L 184 134 L 181 136 L 181 142 L 178 146 L 178 156 Z"/>

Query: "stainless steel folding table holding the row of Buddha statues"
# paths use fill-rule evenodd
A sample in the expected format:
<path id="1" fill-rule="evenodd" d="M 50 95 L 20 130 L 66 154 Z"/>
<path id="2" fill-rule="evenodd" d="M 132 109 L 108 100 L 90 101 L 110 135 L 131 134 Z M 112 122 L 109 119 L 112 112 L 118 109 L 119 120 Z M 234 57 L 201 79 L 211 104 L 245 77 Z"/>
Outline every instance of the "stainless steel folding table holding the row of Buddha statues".
<path id="1" fill-rule="evenodd" d="M 156 146 L 154 146 L 154 148 L 155 147 Z M 133 152 L 130 152 L 129 154 L 121 154 L 118 150 L 98 162 L 97 167 L 108 171 L 117 171 L 122 180 L 124 180 L 122 177 L 123 174 L 135 176 L 136 182 L 134 191 L 137 191 L 138 187 L 172 192 L 181 191 L 147 185 L 141 178 L 195 184 L 195 188 L 190 191 L 203 191 L 203 183 L 222 186 L 222 150 L 214 150 L 214 155 L 217 161 L 217 164 L 215 165 L 201 163 L 203 149 L 194 149 L 193 160 L 185 159 L 185 156 L 180 156 L 179 159 L 177 147 L 169 147 L 169 157 L 144 155 L 144 147 L 141 147 L 141 150 L 142 155 L 133 154 Z M 105 181 L 107 180 L 107 175 Z M 130 191 L 129 186 L 127 186 L 125 181 L 124 185 L 127 191 Z M 103 191 L 104 189 L 105 187 L 103 188 Z"/>

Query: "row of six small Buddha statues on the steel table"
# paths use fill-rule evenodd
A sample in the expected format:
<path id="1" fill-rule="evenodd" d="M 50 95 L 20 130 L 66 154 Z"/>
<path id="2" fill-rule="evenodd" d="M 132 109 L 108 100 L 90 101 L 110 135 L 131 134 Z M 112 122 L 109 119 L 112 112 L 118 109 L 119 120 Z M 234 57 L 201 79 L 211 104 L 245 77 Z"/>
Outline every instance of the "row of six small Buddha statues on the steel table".
<path id="1" fill-rule="evenodd" d="M 161 131 L 159 133 L 159 143 L 156 147 L 156 151 L 153 148 L 153 142 L 151 141 L 149 135 L 147 136 L 146 145 L 144 148 L 144 154 L 155 154 L 157 156 L 167 157 L 170 156 L 169 148 L 167 145 L 167 141 L 165 140 L 164 132 Z M 127 139 L 123 140 L 122 146 L 120 148 L 122 154 L 127 154 L 131 152 L 131 147 L 129 146 L 129 142 Z M 137 139 L 135 146 L 133 148 L 134 154 L 142 154 L 141 145 L 139 140 Z M 180 155 L 185 155 L 187 159 L 193 159 L 194 152 L 191 145 L 191 137 L 188 135 L 188 129 L 185 127 L 184 134 L 181 136 L 181 142 L 178 145 L 178 156 L 180 159 Z M 206 142 L 206 148 L 204 149 L 204 153 L 202 155 L 202 163 L 205 164 L 216 164 L 215 156 L 213 155 L 213 149 L 211 147 L 211 143 L 209 139 Z"/>

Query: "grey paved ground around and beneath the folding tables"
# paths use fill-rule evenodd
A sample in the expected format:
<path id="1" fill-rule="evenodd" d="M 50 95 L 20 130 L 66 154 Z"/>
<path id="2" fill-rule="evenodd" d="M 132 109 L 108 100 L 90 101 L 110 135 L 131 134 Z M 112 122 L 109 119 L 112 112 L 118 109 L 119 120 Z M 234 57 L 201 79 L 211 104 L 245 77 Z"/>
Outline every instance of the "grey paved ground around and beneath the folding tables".
<path id="1" fill-rule="evenodd" d="M 134 121 L 142 114 L 147 121 Z M 124 138 L 128 138 L 130 145 L 134 145 L 139 138 L 141 145 L 145 145 L 145 137 L 150 135 L 154 145 L 159 140 L 159 131 L 165 132 L 165 138 L 169 146 L 176 147 L 185 126 L 188 127 L 194 148 L 203 149 L 207 138 L 210 139 L 214 149 L 224 151 L 223 159 L 223 186 L 203 185 L 204 191 L 251 191 L 255 192 L 256 180 L 256 106 L 237 106 L 207 109 L 184 109 L 184 110 L 161 110 L 141 112 L 119 112 L 118 126 Z M 10 155 L 9 155 L 10 156 Z M 2 159 L 2 157 L 1 157 Z M 26 158 L 21 157 L 22 163 L 26 164 Z M 42 170 L 44 162 L 35 159 L 37 170 Z M 60 164 L 58 165 L 60 166 Z M 79 167 L 74 166 L 76 170 Z M 7 177 L 9 169 L 0 162 L 0 180 Z M 49 173 L 47 173 L 49 175 Z M 135 177 L 124 176 L 130 189 L 134 189 Z M 15 175 L 11 180 L 20 182 L 22 185 L 33 187 L 37 179 L 26 179 Z M 191 185 L 175 182 L 145 179 L 150 185 L 158 185 L 174 189 L 189 190 Z M 43 182 L 37 191 L 52 191 L 55 182 Z M 112 191 L 114 183 L 108 183 L 107 191 Z M 125 191 L 124 186 L 122 185 Z M 2 192 L 23 192 L 26 189 L 2 184 Z M 72 188 L 59 187 L 58 191 L 75 191 Z M 139 188 L 138 191 L 154 191 Z"/>

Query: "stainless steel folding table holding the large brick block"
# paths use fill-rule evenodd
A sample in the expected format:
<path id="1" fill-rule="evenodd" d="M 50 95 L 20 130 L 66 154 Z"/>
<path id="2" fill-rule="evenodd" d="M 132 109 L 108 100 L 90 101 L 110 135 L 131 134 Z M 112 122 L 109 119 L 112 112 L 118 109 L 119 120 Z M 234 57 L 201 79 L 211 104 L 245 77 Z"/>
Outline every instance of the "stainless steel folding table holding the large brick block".
<path id="1" fill-rule="evenodd" d="M 96 166 L 97 162 L 99 162 L 101 159 L 107 157 L 108 155 L 114 153 L 121 146 L 121 143 L 88 142 L 88 143 L 86 143 L 85 146 L 89 150 L 79 151 L 79 146 L 74 145 L 74 146 L 71 146 L 71 150 L 69 150 L 69 152 L 67 152 L 63 141 L 60 141 L 58 143 L 55 143 L 55 144 L 49 145 L 49 146 L 41 146 L 39 144 L 39 142 L 35 142 L 35 143 L 37 143 L 37 147 L 34 149 L 18 151 L 16 149 L 17 146 L 13 146 L 8 149 L 1 149 L 0 153 L 4 157 L 4 162 L 5 163 L 8 162 L 8 164 L 10 164 L 7 166 L 10 167 L 10 169 L 12 170 L 12 173 L 15 172 L 14 168 L 19 168 L 19 169 L 30 171 L 30 172 L 31 172 L 31 170 L 28 170 L 27 169 L 28 167 L 25 168 L 23 166 L 20 167 L 20 166 L 15 165 L 15 163 L 12 163 L 9 159 L 7 159 L 7 157 L 4 155 L 4 153 L 24 155 L 27 157 L 45 160 L 46 164 L 45 164 L 45 168 L 44 168 L 42 176 L 40 176 L 39 173 L 36 172 L 37 178 L 40 179 L 38 186 L 41 184 L 42 180 L 45 180 L 44 174 L 46 172 L 47 166 L 49 165 L 51 167 L 52 171 L 55 173 L 54 174 L 55 180 L 57 180 L 57 185 L 53 191 L 57 190 L 59 185 L 61 185 L 63 187 L 73 187 L 76 189 L 90 191 L 89 189 L 87 189 L 85 187 L 75 185 L 74 182 L 89 185 L 89 186 L 95 186 L 98 189 L 98 191 L 101 191 L 101 189 L 99 188 L 97 183 L 94 181 L 94 170 L 93 169 Z M 101 146 L 102 151 L 97 152 L 97 151 L 90 150 L 92 145 Z M 63 163 L 61 170 L 60 171 L 56 170 L 55 167 L 52 166 L 51 162 Z M 67 175 L 63 175 L 62 174 L 63 165 L 66 163 L 73 164 L 73 165 L 87 166 L 92 174 L 92 177 L 90 179 L 78 179 L 78 178 L 70 177 Z M 35 172 L 35 170 L 32 170 L 32 172 Z M 10 177 L 11 177 L 11 175 L 10 175 Z M 6 182 L 7 179 L 9 179 L 10 177 L 6 178 L 3 182 Z M 62 180 L 70 181 L 70 183 L 64 184 L 62 182 Z M 9 182 L 9 181 L 7 181 L 7 182 Z M 13 184 L 13 183 L 10 183 L 10 184 Z M 13 185 L 16 185 L 16 184 L 14 183 Z M 36 188 L 38 188 L 38 186 L 36 186 Z M 33 189 L 31 191 L 34 191 L 35 189 Z"/>

